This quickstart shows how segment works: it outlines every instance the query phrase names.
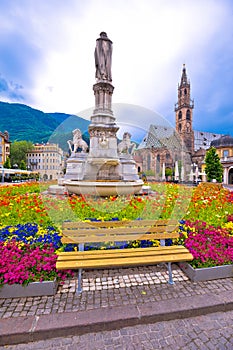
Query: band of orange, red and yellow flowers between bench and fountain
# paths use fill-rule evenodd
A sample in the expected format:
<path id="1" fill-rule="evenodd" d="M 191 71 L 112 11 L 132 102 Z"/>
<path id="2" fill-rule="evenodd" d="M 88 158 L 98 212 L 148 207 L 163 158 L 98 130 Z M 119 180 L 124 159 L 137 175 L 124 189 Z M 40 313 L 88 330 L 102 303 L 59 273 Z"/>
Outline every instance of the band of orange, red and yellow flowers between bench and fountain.
<path id="1" fill-rule="evenodd" d="M 233 193 L 214 184 L 195 188 L 170 183 L 151 183 L 153 196 L 49 196 L 38 184 L 0 186 L 0 227 L 36 223 L 59 227 L 65 220 L 201 220 L 222 226 L 233 214 Z M 43 191 L 43 192 L 42 192 Z"/>

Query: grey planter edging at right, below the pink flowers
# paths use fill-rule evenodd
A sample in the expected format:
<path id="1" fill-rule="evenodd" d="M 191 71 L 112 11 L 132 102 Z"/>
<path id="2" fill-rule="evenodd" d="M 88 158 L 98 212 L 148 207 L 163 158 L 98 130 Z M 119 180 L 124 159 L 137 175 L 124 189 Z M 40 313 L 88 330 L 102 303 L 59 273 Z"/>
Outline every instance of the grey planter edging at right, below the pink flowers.
<path id="1" fill-rule="evenodd" d="M 179 263 L 181 270 L 193 282 L 209 281 L 219 278 L 233 277 L 233 265 L 222 265 L 194 269 L 190 264 Z"/>

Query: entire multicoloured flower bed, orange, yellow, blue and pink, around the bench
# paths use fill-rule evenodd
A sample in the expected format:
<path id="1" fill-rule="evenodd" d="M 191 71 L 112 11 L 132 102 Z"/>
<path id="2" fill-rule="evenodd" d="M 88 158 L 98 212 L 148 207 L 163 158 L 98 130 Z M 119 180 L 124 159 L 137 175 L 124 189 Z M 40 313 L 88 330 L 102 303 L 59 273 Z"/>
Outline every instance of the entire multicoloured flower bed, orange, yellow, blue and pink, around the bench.
<path id="1" fill-rule="evenodd" d="M 0 186 L 0 285 L 70 276 L 55 269 L 56 253 L 73 249 L 61 244 L 59 227 L 65 220 L 87 218 L 184 219 L 179 243 L 193 253 L 193 267 L 232 264 L 232 192 L 212 184 L 188 188 L 152 183 L 151 188 L 153 196 L 94 198 L 47 196 L 35 183 Z"/>

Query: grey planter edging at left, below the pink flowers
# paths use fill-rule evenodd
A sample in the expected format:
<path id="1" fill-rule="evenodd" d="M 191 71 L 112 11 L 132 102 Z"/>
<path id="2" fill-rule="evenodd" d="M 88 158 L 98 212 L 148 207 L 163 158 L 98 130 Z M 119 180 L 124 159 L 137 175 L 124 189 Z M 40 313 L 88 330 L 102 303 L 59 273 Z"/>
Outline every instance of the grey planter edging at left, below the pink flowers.
<path id="1" fill-rule="evenodd" d="M 0 299 L 54 295 L 57 292 L 57 287 L 58 282 L 56 279 L 53 281 L 32 282 L 27 286 L 6 284 L 0 287 Z"/>

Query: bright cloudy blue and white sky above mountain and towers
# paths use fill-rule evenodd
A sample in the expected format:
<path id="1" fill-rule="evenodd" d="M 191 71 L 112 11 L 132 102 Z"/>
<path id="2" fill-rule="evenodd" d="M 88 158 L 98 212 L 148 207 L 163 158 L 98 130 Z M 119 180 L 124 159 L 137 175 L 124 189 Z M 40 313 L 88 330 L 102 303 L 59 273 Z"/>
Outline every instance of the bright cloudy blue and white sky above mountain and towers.
<path id="1" fill-rule="evenodd" d="M 174 126 L 185 64 L 193 128 L 233 135 L 232 18 L 232 0 L 0 0 L 0 100 L 82 115 L 94 107 L 94 50 L 105 31 L 113 103 Z M 149 129 L 151 120 L 135 118 Z"/>

